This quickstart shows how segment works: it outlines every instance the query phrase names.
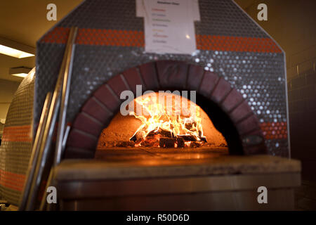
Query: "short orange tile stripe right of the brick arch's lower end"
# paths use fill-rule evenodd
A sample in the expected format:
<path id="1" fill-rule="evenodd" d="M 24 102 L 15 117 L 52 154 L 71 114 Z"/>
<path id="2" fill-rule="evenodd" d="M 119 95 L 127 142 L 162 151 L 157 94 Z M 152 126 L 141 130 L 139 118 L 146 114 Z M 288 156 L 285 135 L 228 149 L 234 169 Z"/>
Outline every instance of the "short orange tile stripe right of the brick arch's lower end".
<path id="1" fill-rule="evenodd" d="M 261 129 L 265 139 L 287 139 L 287 122 L 263 122 Z"/>

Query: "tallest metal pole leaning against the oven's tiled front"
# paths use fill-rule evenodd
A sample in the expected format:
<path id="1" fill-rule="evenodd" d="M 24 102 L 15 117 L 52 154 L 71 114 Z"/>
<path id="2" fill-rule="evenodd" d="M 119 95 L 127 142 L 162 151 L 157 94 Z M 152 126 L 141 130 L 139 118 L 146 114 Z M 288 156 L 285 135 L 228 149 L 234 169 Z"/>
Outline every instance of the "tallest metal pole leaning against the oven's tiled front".
<path id="1" fill-rule="evenodd" d="M 60 94 L 62 91 L 62 82 L 65 77 L 66 68 L 69 68 L 69 64 L 71 62 L 76 34 L 77 34 L 77 27 L 76 28 L 72 27 L 70 29 L 70 34 L 67 40 L 67 45 L 65 48 L 64 58 L 62 60 L 60 73 L 58 75 L 55 90 L 53 92 L 51 108 L 49 109 L 49 113 L 48 113 L 47 123 L 44 130 L 43 141 L 41 143 L 39 158 L 37 160 L 37 167 L 35 169 L 34 179 L 32 180 L 31 192 L 29 193 L 29 198 L 27 199 L 26 210 L 34 210 L 35 208 L 35 203 L 36 203 L 37 195 L 39 193 L 39 186 L 41 184 L 44 167 L 46 165 L 48 155 L 50 154 L 51 139 L 52 139 L 53 131 L 55 128 L 55 122 L 57 120 L 58 108 L 60 106 Z"/>

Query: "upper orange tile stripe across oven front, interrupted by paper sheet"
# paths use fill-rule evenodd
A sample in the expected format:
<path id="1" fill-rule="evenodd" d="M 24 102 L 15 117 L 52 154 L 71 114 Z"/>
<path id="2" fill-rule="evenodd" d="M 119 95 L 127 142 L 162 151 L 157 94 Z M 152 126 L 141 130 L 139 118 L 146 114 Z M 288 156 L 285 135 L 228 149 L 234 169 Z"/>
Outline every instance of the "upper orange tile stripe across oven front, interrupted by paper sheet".
<path id="1" fill-rule="evenodd" d="M 55 27 L 41 42 L 65 44 L 69 28 Z M 196 35 L 197 49 L 209 51 L 246 51 L 281 53 L 281 49 L 270 38 L 226 37 L 215 35 Z M 78 30 L 77 44 L 100 46 L 144 47 L 144 32 L 137 30 L 101 30 L 81 28 Z"/>

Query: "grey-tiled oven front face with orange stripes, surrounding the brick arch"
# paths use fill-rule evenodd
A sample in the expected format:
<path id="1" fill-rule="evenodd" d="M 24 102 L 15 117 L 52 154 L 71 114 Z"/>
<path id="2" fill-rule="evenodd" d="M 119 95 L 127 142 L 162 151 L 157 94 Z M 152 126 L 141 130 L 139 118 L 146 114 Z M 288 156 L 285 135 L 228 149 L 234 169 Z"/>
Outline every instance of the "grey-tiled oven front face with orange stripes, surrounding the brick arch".
<path id="1" fill-rule="evenodd" d="M 96 91 L 112 77 L 146 63 L 168 60 L 216 75 L 214 85 L 221 84 L 218 81 L 230 84 L 228 89 L 242 96 L 258 121 L 268 154 L 288 157 L 284 51 L 233 1 L 199 0 L 199 11 L 201 20 L 195 22 L 197 51 L 191 56 L 159 55 L 145 53 L 143 18 L 136 17 L 135 1 L 84 1 L 37 42 L 34 124 L 39 121 L 46 93 L 55 86 L 70 27 L 77 26 L 67 111 L 67 122 L 73 126 L 88 101 L 102 102 L 100 98 L 109 97 L 98 97 Z M 207 91 L 211 93 L 211 89 Z M 106 124 L 103 120 L 98 122 Z M 87 133 L 98 138 L 96 131 Z M 77 156 L 84 157 L 79 147 L 77 150 Z"/>

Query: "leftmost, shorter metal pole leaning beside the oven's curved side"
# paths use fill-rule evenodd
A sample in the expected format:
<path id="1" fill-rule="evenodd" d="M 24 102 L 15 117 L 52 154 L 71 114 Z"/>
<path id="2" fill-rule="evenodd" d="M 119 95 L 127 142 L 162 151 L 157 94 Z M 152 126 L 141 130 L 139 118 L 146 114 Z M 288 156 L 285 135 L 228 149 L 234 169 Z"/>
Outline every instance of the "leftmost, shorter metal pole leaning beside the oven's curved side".
<path id="1" fill-rule="evenodd" d="M 34 176 L 34 170 L 37 163 L 37 158 L 39 157 L 39 147 L 41 146 L 41 139 L 44 134 L 44 127 L 46 126 L 47 117 L 48 117 L 48 109 L 51 106 L 51 92 L 48 92 L 46 95 L 46 99 L 44 102 L 43 110 L 41 111 L 41 119 L 39 120 L 39 126 L 37 128 L 37 134 L 34 139 L 31 157 L 29 159 L 29 166 L 27 168 L 27 176 L 25 179 L 25 183 L 23 186 L 22 197 L 20 199 L 19 210 L 25 210 L 27 203 L 27 195 L 29 195 L 29 189 L 31 187 L 31 182 Z"/>

